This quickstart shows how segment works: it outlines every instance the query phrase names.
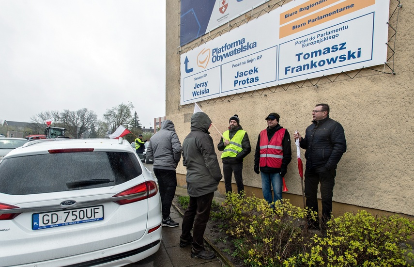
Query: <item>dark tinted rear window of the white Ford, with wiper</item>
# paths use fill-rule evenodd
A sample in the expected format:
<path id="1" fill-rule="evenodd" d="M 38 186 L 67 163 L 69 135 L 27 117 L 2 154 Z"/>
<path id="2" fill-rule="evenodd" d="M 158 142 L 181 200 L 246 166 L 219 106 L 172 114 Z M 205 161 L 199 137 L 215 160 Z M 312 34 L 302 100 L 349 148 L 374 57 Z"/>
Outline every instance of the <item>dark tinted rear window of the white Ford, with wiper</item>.
<path id="1" fill-rule="evenodd" d="M 122 184 L 142 173 L 125 152 L 77 152 L 6 158 L 0 192 L 12 195 L 60 192 Z"/>

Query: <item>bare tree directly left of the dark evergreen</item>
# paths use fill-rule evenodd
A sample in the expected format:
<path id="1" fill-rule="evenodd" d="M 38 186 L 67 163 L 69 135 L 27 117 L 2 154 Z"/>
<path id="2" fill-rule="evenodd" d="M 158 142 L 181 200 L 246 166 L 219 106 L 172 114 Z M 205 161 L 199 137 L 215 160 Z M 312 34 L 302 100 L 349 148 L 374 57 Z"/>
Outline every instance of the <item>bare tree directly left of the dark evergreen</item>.
<path id="1" fill-rule="evenodd" d="M 104 114 L 104 120 L 107 122 L 109 130 L 113 133 L 118 126 L 126 126 L 131 120 L 131 110 L 134 109 L 134 105 L 128 102 L 127 105 L 121 103 L 116 107 L 113 107 Z"/>

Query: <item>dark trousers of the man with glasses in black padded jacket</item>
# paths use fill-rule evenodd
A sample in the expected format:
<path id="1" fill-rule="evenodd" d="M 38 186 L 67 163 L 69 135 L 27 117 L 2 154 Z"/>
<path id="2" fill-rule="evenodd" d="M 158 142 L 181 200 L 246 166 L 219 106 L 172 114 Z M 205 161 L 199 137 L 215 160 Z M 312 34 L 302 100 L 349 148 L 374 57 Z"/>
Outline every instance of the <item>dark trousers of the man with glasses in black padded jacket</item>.
<path id="1" fill-rule="evenodd" d="M 318 185 L 321 183 L 322 197 L 322 229 L 326 229 L 326 222 L 331 219 L 332 212 L 332 196 L 335 186 L 336 171 L 328 171 L 325 167 L 308 169 L 305 171 L 305 196 L 306 206 L 316 212 L 316 219 L 308 216 L 307 222 L 310 228 L 319 228 L 319 212 L 318 212 Z"/>

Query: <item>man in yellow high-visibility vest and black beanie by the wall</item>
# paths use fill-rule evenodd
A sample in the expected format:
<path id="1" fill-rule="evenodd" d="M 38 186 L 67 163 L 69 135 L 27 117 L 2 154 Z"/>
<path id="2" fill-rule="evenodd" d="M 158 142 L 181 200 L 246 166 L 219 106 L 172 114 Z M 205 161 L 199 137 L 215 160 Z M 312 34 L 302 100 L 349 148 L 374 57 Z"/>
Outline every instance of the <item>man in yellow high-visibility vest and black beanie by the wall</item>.
<path id="1" fill-rule="evenodd" d="M 231 174 L 234 172 L 234 179 L 237 184 L 237 192 L 244 191 L 243 185 L 243 159 L 250 153 L 250 141 L 245 130 L 240 125 L 237 114 L 230 117 L 229 129 L 223 133 L 223 138 L 217 145 L 219 151 L 223 151 L 223 176 L 226 193 L 231 192 Z"/>

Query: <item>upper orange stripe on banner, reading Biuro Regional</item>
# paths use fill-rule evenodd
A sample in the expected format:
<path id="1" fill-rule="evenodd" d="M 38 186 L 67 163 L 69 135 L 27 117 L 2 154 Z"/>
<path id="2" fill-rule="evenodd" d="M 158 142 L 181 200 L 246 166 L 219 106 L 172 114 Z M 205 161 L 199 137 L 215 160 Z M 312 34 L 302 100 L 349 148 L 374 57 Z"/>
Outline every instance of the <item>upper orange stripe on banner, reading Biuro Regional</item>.
<path id="1" fill-rule="evenodd" d="M 288 23 L 289 21 L 301 16 L 306 16 L 311 12 L 315 12 L 325 6 L 333 4 L 340 0 L 309 0 L 304 4 L 289 9 L 286 12 L 280 14 L 280 25 Z"/>

